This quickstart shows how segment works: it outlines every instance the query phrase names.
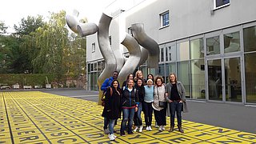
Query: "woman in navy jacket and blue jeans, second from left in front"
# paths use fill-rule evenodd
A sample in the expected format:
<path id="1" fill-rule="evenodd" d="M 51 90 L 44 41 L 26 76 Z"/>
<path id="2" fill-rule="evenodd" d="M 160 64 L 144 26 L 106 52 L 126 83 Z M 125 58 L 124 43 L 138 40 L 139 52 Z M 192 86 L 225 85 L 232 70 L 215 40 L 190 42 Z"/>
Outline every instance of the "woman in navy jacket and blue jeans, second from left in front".
<path id="1" fill-rule="evenodd" d="M 134 80 L 130 79 L 127 86 L 122 91 L 122 122 L 120 135 L 125 135 L 126 127 L 128 134 L 134 134 L 132 131 L 134 112 L 138 110 L 138 95 L 134 88 Z M 126 124 L 128 122 L 128 125 Z"/>

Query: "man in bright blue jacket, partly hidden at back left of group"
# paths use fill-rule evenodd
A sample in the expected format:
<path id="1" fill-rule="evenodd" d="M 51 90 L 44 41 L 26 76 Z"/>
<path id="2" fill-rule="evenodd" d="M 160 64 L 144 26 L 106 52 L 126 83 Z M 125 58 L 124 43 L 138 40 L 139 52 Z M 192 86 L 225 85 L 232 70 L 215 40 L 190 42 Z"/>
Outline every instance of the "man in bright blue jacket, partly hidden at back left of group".
<path id="1" fill-rule="evenodd" d="M 103 94 L 106 92 L 107 88 L 111 86 L 111 83 L 114 81 L 114 79 L 117 79 L 117 78 L 118 78 L 118 71 L 114 71 L 112 77 L 105 79 L 101 87 Z M 104 133 L 105 134 L 110 133 L 110 131 L 107 128 L 108 124 L 109 124 L 109 119 L 104 117 Z"/>

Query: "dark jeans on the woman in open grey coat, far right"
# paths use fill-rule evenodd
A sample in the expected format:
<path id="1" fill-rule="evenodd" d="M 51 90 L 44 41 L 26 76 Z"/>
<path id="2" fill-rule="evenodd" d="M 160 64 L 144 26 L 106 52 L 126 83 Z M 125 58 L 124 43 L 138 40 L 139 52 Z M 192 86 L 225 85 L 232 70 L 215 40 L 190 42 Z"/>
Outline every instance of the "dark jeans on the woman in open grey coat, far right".
<path id="1" fill-rule="evenodd" d="M 177 114 L 178 125 L 182 126 L 182 107 L 183 103 L 170 102 L 170 125 L 174 126 L 175 113 Z"/>

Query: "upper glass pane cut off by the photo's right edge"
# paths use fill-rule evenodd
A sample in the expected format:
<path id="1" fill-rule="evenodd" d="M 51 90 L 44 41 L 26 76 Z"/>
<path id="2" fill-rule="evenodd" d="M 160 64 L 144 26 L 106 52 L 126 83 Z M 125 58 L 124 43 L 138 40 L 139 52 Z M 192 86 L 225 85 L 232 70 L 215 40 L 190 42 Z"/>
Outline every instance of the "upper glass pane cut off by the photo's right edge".
<path id="1" fill-rule="evenodd" d="M 256 51 L 256 26 L 243 30 L 245 52 Z"/>

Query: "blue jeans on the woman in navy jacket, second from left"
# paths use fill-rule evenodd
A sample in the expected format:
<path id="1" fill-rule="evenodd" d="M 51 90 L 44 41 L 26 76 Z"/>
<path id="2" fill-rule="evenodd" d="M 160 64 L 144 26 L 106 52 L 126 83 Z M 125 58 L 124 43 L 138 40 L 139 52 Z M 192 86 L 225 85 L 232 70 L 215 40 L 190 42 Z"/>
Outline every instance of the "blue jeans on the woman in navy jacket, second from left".
<path id="1" fill-rule="evenodd" d="M 128 122 L 128 133 L 131 133 L 131 126 L 133 126 L 135 108 L 132 109 L 122 109 L 122 122 L 121 131 L 126 130 L 126 123 Z"/>

